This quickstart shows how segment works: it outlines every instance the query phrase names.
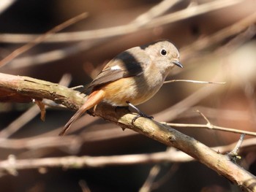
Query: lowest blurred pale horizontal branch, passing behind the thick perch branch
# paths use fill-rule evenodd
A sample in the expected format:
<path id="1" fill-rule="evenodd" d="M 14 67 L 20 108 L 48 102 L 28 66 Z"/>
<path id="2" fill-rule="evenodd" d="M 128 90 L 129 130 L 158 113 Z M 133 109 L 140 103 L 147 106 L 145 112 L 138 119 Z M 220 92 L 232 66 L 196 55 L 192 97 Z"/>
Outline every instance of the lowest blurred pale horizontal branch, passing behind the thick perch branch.
<path id="1" fill-rule="evenodd" d="M 59 137 L 58 137 L 59 138 Z M 59 146 L 64 146 L 64 142 L 72 143 L 68 140 L 69 137 L 63 137 L 61 141 L 59 140 Z M 77 137 L 78 138 L 78 137 Z M 43 139 L 43 138 L 42 138 Z M 64 139 L 64 141 L 62 141 Z M 73 138 L 75 140 L 75 137 Z M 48 140 L 49 141 L 49 140 Z M 41 142 L 39 142 L 41 143 Z M 47 144 L 44 142 L 42 144 Z M 31 143 L 31 146 L 33 144 Z M 236 147 L 237 142 L 230 145 L 212 147 L 213 150 L 218 151 L 218 153 L 227 153 Z M 240 144 L 239 144 L 240 145 Z M 256 145 L 256 139 L 245 139 L 241 143 L 241 147 L 252 147 Z M 45 145 L 49 147 L 50 145 Z M 23 146 L 24 148 L 27 146 Z M 35 146 L 36 147 L 36 146 Z M 30 147 L 32 149 L 32 147 Z M 11 149 L 11 147 L 10 147 Z M 15 159 L 12 156 L 12 159 Z M 12 168 L 16 170 L 20 169 L 37 169 L 39 167 L 67 167 L 67 168 L 80 168 L 81 166 L 86 167 L 102 167 L 102 166 L 112 166 L 112 165 L 132 165 L 132 164 L 159 164 L 162 162 L 168 163 L 185 163 L 189 161 L 195 161 L 194 158 L 187 155 L 186 153 L 176 150 L 170 147 L 170 150 L 165 152 L 157 153 L 144 153 L 144 154 L 132 154 L 132 155 L 108 155 L 108 156 L 66 156 L 61 158 L 33 158 L 33 159 L 15 159 L 15 164 L 12 163 Z M 13 161 L 12 161 L 13 162 Z M 72 165 L 79 163 L 80 167 L 72 167 Z M 0 161 L 0 169 L 10 168 L 10 161 L 4 160 Z"/>

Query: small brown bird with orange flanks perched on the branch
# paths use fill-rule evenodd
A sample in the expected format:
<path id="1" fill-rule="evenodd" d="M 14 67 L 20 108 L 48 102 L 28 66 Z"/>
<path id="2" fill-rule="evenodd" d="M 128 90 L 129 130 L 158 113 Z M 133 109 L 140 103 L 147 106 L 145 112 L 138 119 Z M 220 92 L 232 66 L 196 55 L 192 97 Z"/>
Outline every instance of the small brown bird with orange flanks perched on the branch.
<path id="1" fill-rule="evenodd" d="M 120 53 L 91 82 L 87 101 L 70 118 L 59 135 L 64 135 L 80 115 L 100 101 L 113 106 L 130 106 L 138 111 L 138 117 L 150 118 L 135 105 L 151 99 L 175 65 L 183 67 L 177 48 L 167 40 L 132 47 Z"/>

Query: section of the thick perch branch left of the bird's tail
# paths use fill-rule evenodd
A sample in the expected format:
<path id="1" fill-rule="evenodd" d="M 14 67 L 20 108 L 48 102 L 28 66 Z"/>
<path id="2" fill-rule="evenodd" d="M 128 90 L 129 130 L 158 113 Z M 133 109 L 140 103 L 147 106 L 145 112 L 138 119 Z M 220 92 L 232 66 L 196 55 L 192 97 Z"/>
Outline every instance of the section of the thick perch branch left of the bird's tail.
<path id="1" fill-rule="evenodd" d="M 57 83 L 0 73 L 0 101 L 31 102 L 50 99 L 78 110 L 85 95 Z"/>

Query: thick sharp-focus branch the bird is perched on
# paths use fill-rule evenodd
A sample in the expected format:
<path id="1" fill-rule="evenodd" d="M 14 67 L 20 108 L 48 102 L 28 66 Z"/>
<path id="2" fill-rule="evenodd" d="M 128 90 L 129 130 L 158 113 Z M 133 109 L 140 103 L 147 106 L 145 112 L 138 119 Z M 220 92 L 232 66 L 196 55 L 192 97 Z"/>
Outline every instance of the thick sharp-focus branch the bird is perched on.
<path id="1" fill-rule="evenodd" d="M 14 101 L 17 98 L 20 101 L 50 99 L 56 103 L 64 104 L 71 110 L 78 109 L 83 104 L 83 95 L 78 91 L 56 83 L 36 80 L 31 77 L 0 74 L 0 101 Z M 242 169 L 241 166 L 234 164 L 227 155 L 217 153 L 170 126 L 147 118 L 138 118 L 135 123 L 132 123 L 135 114 L 131 114 L 129 110 L 124 108 L 116 110 L 115 107 L 103 103 L 98 104 L 95 111 L 91 112 L 116 123 L 123 129 L 130 128 L 167 146 L 182 150 L 246 191 L 255 191 L 256 189 L 255 176 Z M 61 162 L 63 163 L 63 161 Z"/>

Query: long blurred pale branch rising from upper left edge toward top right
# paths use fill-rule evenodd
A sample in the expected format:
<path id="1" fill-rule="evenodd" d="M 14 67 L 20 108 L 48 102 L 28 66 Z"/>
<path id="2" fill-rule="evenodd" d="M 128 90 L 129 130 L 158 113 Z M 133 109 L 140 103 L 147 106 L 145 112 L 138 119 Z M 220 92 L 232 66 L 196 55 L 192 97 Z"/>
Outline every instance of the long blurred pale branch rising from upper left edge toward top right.
<path id="1" fill-rule="evenodd" d="M 178 1 L 176 0 L 175 2 L 178 2 Z M 241 2 L 242 2 L 241 0 L 210 1 L 205 4 L 198 4 L 192 7 L 187 7 L 186 9 L 182 9 L 177 12 L 163 15 L 162 17 L 158 17 L 154 19 L 151 18 L 151 20 L 148 20 L 148 23 L 146 25 L 144 25 L 145 23 L 139 23 L 138 26 L 140 27 L 143 26 L 143 28 L 152 28 L 152 27 L 162 26 L 167 23 L 176 22 L 178 20 L 192 18 L 196 15 L 200 15 L 206 12 L 214 11 L 217 9 L 223 9 L 225 7 L 230 7 L 235 4 L 239 4 Z M 162 12 L 160 12 L 160 14 L 162 14 Z M 136 23 L 137 22 L 138 21 L 136 21 Z M 114 26 L 110 28 L 100 28 L 96 30 L 59 33 L 59 34 L 54 34 L 49 39 L 45 40 L 45 42 L 70 42 L 70 41 L 81 41 L 81 40 L 87 40 L 87 39 L 115 37 L 115 36 L 130 34 L 132 32 L 138 31 L 139 29 L 138 26 L 135 25 L 135 23 L 129 23 L 127 25 Z M 37 38 L 37 35 L 1 34 L 0 41 L 9 42 L 9 43 L 21 43 L 21 42 L 29 42 L 31 41 L 31 39 L 34 39 L 34 38 Z"/>

